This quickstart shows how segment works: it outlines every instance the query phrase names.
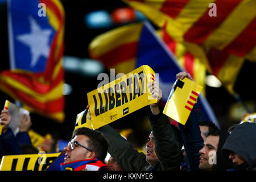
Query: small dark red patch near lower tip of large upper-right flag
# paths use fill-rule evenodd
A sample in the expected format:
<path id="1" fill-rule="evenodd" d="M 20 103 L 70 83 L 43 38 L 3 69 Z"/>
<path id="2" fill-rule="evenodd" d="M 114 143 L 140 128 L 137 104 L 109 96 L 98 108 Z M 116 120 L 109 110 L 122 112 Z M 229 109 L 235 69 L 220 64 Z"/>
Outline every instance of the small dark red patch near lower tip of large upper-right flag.
<path id="1" fill-rule="evenodd" d="M 228 60 L 229 53 L 225 51 L 219 51 L 218 49 L 212 48 L 207 54 L 210 69 L 212 69 L 213 75 L 218 76 L 218 72 Z"/>

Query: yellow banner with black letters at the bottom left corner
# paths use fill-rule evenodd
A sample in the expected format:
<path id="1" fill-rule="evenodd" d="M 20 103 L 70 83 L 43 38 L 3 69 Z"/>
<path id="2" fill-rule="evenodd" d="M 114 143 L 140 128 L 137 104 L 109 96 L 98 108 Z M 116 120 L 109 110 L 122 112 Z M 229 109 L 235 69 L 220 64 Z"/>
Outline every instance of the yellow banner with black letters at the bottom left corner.
<path id="1" fill-rule="evenodd" d="M 60 155 L 53 154 L 26 154 L 3 156 L 0 171 L 45 171 Z"/>

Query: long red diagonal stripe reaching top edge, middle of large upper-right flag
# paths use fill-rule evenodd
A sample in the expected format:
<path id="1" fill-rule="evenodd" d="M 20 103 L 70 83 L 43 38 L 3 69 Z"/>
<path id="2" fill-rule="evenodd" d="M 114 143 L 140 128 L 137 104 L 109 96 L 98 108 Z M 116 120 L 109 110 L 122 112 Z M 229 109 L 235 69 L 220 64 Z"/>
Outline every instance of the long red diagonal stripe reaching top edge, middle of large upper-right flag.
<path id="1" fill-rule="evenodd" d="M 208 36 L 224 22 L 240 2 L 242 2 L 242 0 L 214 1 L 217 7 L 217 16 L 209 16 L 210 8 L 207 8 L 201 18 L 184 34 L 185 41 L 196 44 L 203 43 Z"/>

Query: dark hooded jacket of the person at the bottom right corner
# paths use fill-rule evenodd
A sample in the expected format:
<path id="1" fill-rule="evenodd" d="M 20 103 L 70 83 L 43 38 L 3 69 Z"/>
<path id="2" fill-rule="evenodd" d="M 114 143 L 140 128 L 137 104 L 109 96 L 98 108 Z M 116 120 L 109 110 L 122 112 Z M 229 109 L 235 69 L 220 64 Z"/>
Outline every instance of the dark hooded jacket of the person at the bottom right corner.
<path id="1" fill-rule="evenodd" d="M 256 171 L 256 124 L 245 122 L 238 125 L 226 139 L 222 152 L 229 157 L 230 152 L 241 156 L 247 163 L 247 170 Z"/>

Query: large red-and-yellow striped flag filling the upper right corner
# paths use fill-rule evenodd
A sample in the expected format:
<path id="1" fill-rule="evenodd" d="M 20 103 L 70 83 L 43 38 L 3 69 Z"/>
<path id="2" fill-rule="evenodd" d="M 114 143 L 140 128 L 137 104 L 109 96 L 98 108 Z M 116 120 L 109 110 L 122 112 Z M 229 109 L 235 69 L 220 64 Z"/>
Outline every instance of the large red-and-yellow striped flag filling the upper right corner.
<path id="1" fill-rule="evenodd" d="M 230 93 L 244 59 L 255 61 L 254 0 L 126 0 L 183 43 Z M 216 9 L 216 16 L 210 12 Z"/>

